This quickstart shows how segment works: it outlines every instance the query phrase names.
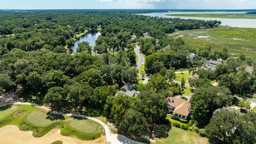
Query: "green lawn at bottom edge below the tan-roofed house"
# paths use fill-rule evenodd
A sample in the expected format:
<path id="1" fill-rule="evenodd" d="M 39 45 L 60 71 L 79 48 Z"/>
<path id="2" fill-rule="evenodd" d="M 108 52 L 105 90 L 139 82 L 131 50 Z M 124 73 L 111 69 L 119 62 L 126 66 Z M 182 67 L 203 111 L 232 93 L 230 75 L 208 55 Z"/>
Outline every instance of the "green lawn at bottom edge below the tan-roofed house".
<path id="1" fill-rule="evenodd" d="M 180 128 L 172 126 L 172 129 L 169 131 L 169 136 L 167 138 L 156 138 L 156 143 L 165 143 L 165 144 L 203 144 L 209 143 L 206 138 L 200 137 L 195 131 L 185 131 Z"/>

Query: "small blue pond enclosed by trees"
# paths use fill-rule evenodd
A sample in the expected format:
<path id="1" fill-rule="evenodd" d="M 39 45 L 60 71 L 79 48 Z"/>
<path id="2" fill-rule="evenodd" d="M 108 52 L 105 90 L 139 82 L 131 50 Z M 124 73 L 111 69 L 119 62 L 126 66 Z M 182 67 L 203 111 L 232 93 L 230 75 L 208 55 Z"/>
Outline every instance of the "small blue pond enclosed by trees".
<path id="1" fill-rule="evenodd" d="M 75 41 L 74 46 L 72 46 L 71 49 L 72 49 L 73 51 L 76 51 L 76 49 L 77 49 L 77 47 L 78 47 L 78 44 L 81 43 L 81 42 L 85 42 L 85 41 L 89 42 L 89 44 L 90 44 L 90 45 L 92 46 L 92 48 L 93 48 L 95 41 L 97 40 L 98 36 L 100 36 L 100 35 L 101 35 L 100 32 L 97 32 L 97 31 L 96 31 L 95 33 L 92 33 L 92 32 L 89 31 L 89 32 L 86 33 L 85 35 L 83 35 L 83 36 L 77 38 L 76 41 Z M 92 53 L 93 53 L 93 50 L 92 50 Z"/>

